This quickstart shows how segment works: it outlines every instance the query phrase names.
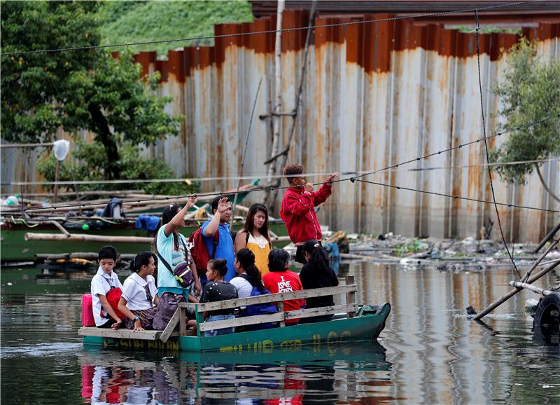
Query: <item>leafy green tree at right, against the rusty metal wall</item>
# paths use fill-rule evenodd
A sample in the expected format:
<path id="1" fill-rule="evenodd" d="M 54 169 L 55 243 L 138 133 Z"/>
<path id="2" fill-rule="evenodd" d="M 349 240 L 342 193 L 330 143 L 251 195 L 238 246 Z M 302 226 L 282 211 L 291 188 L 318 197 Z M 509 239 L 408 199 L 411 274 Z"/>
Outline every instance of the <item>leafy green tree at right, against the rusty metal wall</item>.
<path id="1" fill-rule="evenodd" d="M 526 39 L 510 50 L 503 81 L 493 89 L 500 99 L 499 114 L 507 131 L 560 114 L 560 61 L 542 61 Z M 560 154 L 560 119 L 510 132 L 502 146 L 491 152 L 497 163 L 540 160 Z M 523 184 L 533 163 L 497 166 L 500 177 Z"/>

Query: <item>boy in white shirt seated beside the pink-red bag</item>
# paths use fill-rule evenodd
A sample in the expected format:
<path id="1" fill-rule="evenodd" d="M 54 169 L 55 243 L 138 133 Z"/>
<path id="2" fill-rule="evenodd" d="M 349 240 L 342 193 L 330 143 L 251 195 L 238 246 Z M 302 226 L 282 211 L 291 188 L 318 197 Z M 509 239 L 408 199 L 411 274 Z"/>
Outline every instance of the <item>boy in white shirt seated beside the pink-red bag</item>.
<path id="1" fill-rule="evenodd" d="M 124 318 L 124 316 L 116 312 L 120 294 L 123 293 L 123 284 L 120 284 L 118 275 L 113 271 L 113 267 L 117 263 L 116 249 L 112 246 L 102 247 L 99 250 L 97 263 L 99 263 L 99 268 L 97 274 L 93 276 L 91 284 L 95 326 L 118 329 L 123 323 L 121 317 Z"/>

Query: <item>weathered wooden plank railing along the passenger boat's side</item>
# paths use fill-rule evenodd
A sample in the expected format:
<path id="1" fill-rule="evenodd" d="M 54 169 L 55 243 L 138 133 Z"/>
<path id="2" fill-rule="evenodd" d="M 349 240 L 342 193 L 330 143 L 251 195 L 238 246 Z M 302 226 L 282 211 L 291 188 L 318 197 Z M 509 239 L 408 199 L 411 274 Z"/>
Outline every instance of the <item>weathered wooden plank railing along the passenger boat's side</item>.
<path id="1" fill-rule="evenodd" d="M 345 304 L 283 312 L 283 301 L 340 294 L 346 295 Z M 232 320 L 204 322 L 204 312 L 239 308 L 260 303 L 276 303 L 276 306 L 278 307 L 278 313 L 255 315 L 250 317 L 238 317 Z M 334 315 L 341 312 L 346 313 L 348 317 L 353 317 L 358 310 L 358 305 L 356 304 L 356 284 L 354 284 L 353 276 L 346 276 L 346 285 L 337 287 L 281 292 L 276 294 L 266 294 L 248 298 L 236 298 L 211 303 L 179 303 L 179 308 L 177 308 L 172 319 L 169 321 L 169 324 L 167 324 L 167 327 L 160 336 L 161 341 L 165 343 L 167 339 L 172 336 L 174 330 L 177 327 L 177 324 L 179 324 L 179 335 L 188 336 L 186 325 L 186 311 L 188 309 L 195 311 L 197 320 L 196 334 L 197 336 L 202 336 L 201 334 L 203 334 L 204 331 L 207 330 L 258 325 L 271 322 L 277 322 L 279 324 L 279 327 L 284 327 L 286 324 L 286 320 Z"/>

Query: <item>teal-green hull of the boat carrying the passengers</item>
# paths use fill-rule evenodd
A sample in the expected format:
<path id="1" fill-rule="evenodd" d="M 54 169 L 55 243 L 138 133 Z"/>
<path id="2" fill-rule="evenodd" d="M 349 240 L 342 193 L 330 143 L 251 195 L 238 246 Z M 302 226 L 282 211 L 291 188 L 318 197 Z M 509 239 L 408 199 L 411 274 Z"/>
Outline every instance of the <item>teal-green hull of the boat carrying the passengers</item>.
<path id="1" fill-rule="evenodd" d="M 373 341 L 385 327 L 391 306 L 385 303 L 377 313 L 353 318 L 298 324 L 292 327 L 249 331 L 221 336 L 179 336 L 167 343 L 139 339 L 84 336 L 84 345 L 137 350 L 180 350 L 183 352 L 253 353 L 274 348 L 297 350 L 303 345 L 339 345 Z"/>

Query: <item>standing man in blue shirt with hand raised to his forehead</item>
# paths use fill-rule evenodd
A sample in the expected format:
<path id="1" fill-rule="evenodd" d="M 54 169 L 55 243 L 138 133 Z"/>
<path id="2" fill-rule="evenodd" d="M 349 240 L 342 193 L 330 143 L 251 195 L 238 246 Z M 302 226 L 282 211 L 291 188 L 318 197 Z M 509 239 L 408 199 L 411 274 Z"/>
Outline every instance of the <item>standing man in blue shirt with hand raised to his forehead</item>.
<path id="1" fill-rule="evenodd" d="M 235 267 L 233 262 L 235 260 L 235 252 L 233 250 L 232 234 L 230 232 L 230 219 L 232 219 L 232 205 L 227 197 L 218 197 L 212 200 L 212 212 L 214 217 L 202 224 L 202 238 L 208 250 L 208 254 L 212 256 L 214 249 L 214 234 L 218 232 L 219 239 L 216 246 L 216 259 L 225 259 L 227 261 L 228 273 L 226 273 L 224 280 L 230 282 L 235 277 Z"/>

